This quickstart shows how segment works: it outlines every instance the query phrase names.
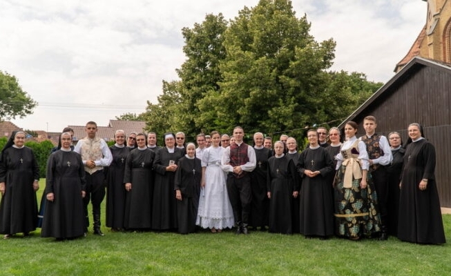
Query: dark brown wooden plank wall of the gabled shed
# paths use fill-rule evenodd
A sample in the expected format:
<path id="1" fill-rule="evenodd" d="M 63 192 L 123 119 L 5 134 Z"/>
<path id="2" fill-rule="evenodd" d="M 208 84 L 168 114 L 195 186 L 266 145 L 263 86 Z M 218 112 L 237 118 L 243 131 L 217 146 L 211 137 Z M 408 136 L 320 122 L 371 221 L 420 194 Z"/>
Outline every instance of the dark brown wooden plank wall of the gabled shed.
<path id="1" fill-rule="evenodd" d="M 365 134 L 363 118 L 374 115 L 376 132 L 398 131 L 407 141 L 407 126 L 419 123 L 436 149 L 435 177 L 441 206 L 451 208 L 451 70 L 419 66 L 387 88 L 354 118 L 358 136 Z"/>

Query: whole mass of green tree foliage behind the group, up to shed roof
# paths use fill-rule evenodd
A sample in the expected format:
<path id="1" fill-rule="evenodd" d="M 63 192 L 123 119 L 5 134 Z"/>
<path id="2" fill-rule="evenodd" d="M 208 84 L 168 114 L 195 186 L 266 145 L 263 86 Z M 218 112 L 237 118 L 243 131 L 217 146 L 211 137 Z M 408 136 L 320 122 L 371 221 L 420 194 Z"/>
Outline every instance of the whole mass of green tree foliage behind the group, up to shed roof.
<path id="1" fill-rule="evenodd" d="M 248 134 L 299 136 L 314 124 L 338 124 L 382 83 L 330 71 L 336 43 L 316 41 L 310 27 L 291 1 L 260 0 L 229 22 L 207 14 L 183 28 L 180 80 L 163 81 L 158 103 L 148 102 L 142 116 L 149 130 L 194 136 L 240 125 Z"/>

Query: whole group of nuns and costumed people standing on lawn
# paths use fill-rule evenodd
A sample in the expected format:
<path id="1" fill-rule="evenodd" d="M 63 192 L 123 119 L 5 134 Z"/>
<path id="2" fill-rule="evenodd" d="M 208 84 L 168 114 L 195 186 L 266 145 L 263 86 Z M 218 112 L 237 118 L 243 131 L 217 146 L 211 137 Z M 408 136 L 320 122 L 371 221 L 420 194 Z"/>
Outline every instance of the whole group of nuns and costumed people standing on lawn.
<path id="1" fill-rule="evenodd" d="M 86 124 L 84 139 L 72 146 L 70 130 L 48 159 L 41 200 L 41 237 L 73 239 L 100 228 L 106 195 L 106 226 L 112 231 L 155 230 L 220 233 L 235 228 L 270 233 L 301 233 L 306 238 L 347 239 L 394 235 L 406 242 L 443 244 L 445 235 L 434 181 L 434 146 L 419 124 L 408 126 L 409 141 L 376 133 L 376 118 L 365 117 L 365 135 L 345 124 L 307 131 L 302 152 L 294 137 L 271 141 L 261 132 L 253 146 L 237 126 L 231 136 L 213 131 L 185 143 L 183 132 L 115 132 L 108 148 Z M 329 142 L 327 142 L 329 137 Z M 28 235 L 37 225 L 39 167 L 25 134 L 15 132 L 0 159 L 0 233 Z M 342 143 L 343 141 L 343 143 Z M 106 184 L 106 190 L 105 190 Z"/>

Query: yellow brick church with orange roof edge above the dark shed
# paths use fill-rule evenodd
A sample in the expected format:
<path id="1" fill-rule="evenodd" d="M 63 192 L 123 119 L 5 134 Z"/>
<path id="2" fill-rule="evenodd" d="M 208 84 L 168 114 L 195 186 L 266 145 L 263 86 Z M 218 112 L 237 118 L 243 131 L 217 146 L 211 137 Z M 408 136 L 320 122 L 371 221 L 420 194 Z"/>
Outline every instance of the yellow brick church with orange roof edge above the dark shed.
<path id="1" fill-rule="evenodd" d="M 428 2 L 426 24 L 394 72 L 414 57 L 451 63 L 451 0 L 422 1 Z"/>

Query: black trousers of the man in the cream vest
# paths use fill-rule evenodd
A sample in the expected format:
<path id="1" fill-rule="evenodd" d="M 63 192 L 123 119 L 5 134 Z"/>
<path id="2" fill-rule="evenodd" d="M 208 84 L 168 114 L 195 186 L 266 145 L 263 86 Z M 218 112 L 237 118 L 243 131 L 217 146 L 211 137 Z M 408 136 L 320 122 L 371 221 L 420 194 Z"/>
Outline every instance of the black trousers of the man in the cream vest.
<path id="1" fill-rule="evenodd" d="M 93 204 L 94 219 L 96 215 L 98 219 L 100 218 L 100 204 L 102 204 L 102 201 L 104 200 L 105 197 L 104 180 L 105 180 L 104 170 L 97 170 L 97 172 L 94 172 L 92 175 L 86 172 L 86 195 L 83 199 L 84 215 L 86 221 L 85 228 L 88 228 L 89 226 L 89 215 L 88 215 L 89 201 L 91 201 L 91 203 Z"/>

